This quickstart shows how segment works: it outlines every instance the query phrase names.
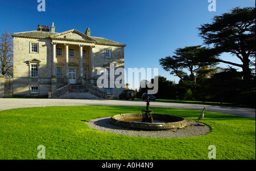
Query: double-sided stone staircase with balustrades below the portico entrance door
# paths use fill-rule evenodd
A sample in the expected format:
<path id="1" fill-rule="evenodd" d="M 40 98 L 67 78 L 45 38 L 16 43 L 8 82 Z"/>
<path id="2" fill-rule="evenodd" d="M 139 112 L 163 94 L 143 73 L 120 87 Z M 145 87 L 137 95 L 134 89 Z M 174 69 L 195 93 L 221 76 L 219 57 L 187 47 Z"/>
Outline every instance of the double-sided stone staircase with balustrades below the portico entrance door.
<path id="1" fill-rule="evenodd" d="M 67 84 L 55 91 L 48 92 L 48 99 L 61 97 L 65 99 L 106 99 L 107 96 L 106 92 L 100 91 L 93 86 L 83 84 Z"/>

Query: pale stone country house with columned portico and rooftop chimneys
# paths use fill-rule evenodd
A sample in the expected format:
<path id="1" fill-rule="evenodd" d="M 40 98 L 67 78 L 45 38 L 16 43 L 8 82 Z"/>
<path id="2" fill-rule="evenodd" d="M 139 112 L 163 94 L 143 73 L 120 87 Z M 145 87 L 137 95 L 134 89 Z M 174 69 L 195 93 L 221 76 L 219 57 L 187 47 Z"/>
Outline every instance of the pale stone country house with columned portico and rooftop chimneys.
<path id="1" fill-rule="evenodd" d="M 89 28 L 85 33 L 76 29 L 56 33 L 54 26 L 51 32 L 47 28 L 38 25 L 38 31 L 11 34 L 14 39 L 14 95 L 48 96 L 48 92 L 67 84 L 88 84 L 97 88 L 96 81 L 101 76 L 97 75 L 98 69 L 108 69 L 110 63 L 124 69 L 126 45 L 90 36 Z M 114 99 L 123 89 L 100 88 Z"/>

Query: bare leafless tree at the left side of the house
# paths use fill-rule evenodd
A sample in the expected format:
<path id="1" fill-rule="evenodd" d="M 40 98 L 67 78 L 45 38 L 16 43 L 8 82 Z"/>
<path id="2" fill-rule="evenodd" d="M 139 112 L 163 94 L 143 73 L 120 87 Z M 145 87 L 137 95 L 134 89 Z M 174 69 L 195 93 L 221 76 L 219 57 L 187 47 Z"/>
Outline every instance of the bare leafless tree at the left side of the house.
<path id="1" fill-rule="evenodd" d="M 7 30 L 0 37 L 0 74 L 13 77 L 13 37 Z"/>

